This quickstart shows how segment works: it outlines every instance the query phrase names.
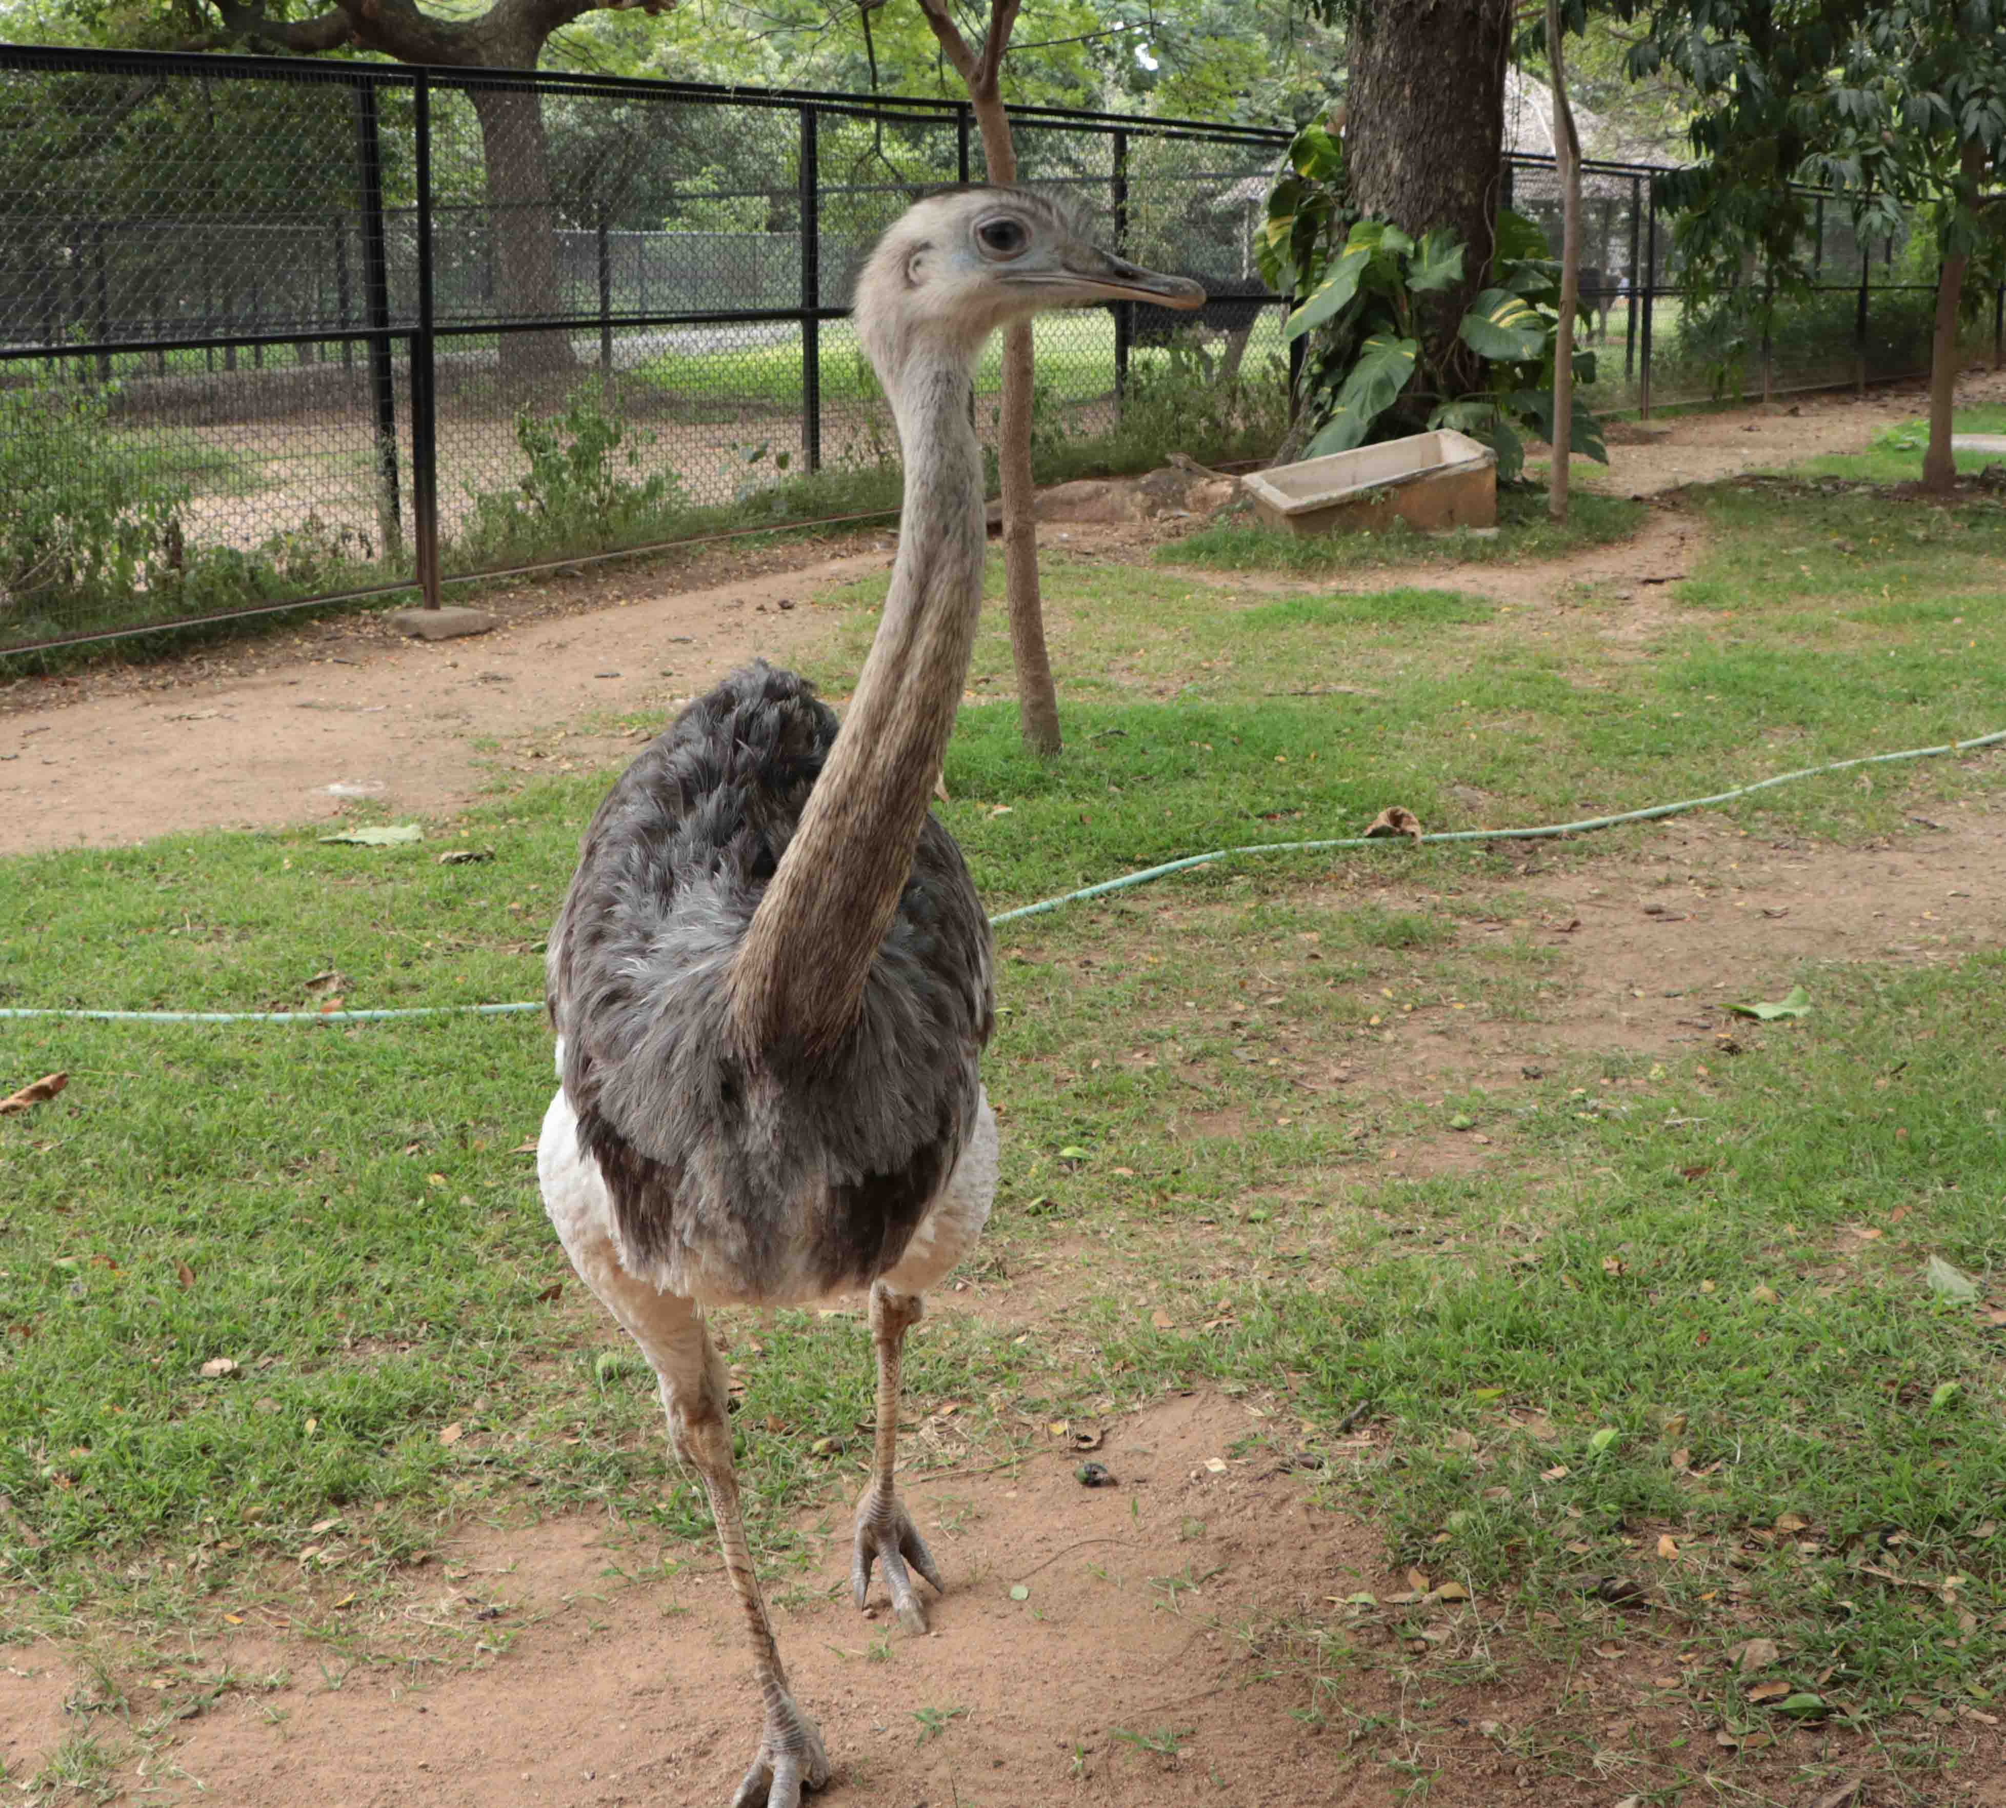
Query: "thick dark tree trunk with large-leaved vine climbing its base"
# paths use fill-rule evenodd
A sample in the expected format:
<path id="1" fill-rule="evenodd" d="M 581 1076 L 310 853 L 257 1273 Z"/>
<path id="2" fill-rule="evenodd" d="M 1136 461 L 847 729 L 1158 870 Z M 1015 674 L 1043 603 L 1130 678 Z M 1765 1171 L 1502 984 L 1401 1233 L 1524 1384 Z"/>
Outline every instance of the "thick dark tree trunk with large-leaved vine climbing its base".
<path id="1" fill-rule="evenodd" d="M 1504 68 L 1511 0 L 1358 0 L 1344 153 L 1352 203 L 1416 239 L 1446 227 L 1464 247 L 1462 283 L 1430 297 L 1428 355 L 1452 389 L 1474 385 L 1456 339 L 1484 287 L 1504 199 Z"/>

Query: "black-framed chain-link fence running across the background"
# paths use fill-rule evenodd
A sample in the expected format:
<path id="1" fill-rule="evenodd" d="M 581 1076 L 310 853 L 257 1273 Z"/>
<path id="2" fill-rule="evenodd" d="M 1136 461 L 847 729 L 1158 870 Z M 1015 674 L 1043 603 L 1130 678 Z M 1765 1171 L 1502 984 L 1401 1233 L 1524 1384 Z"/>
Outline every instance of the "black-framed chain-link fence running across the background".
<path id="1" fill-rule="evenodd" d="M 1258 439 L 1288 365 L 1252 233 L 1288 134 L 1013 128 L 1025 183 L 1212 293 L 1196 327 L 1037 321 L 1041 474 L 1133 454 L 1143 419 Z M 979 169 L 945 100 L 0 46 L 0 652 L 891 510 L 851 283 Z M 1513 181 L 1557 237 L 1551 169 Z M 1589 171 L 1597 407 L 1926 363 L 1908 247 L 1833 231 L 1864 287 L 1759 363 L 1685 309 L 1649 191 Z M 997 387 L 993 349 L 985 433 Z"/>

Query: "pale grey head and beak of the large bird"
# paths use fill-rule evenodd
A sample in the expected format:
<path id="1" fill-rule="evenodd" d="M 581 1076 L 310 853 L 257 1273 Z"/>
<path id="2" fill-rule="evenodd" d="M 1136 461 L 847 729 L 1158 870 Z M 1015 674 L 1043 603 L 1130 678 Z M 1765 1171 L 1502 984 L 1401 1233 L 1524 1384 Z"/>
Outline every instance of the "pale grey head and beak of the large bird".
<path id="1" fill-rule="evenodd" d="M 881 373 L 921 339 L 973 357 L 1001 325 L 1083 301 L 1198 307 L 1190 277 L 1145 271 L 1093 245 L 1067 213 L 1027 189 L 955 189 L 907 209 L 857 281 L 855 315 Z"/>

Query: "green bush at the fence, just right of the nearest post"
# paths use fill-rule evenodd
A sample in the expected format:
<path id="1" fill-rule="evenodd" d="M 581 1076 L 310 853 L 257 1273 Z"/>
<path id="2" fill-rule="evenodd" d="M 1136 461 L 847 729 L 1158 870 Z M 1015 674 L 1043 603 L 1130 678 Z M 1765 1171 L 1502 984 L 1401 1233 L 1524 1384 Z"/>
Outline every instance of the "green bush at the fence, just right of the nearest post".
<path id="1" fill-rule="evenodd" d="M 516 413 L 530 470 L 514 490 L 469 490 L 473 518 L 455 552 L 473 564 L 666 538 L 684 508 L 674 472 L 642 474 L 650 431 L 628 431 L 620 395 L 588 377 L 558 415 Z"/>

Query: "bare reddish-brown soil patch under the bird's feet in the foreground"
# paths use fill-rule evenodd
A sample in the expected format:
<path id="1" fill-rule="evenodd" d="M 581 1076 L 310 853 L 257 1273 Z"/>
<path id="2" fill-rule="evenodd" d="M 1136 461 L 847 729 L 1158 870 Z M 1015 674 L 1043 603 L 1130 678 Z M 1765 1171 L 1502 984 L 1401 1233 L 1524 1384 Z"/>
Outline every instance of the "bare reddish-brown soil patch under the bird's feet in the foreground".
<path id="1" fill-rule="evenodd" d="M 1717 1744 L 1719 1639 L 1655 1601 L 1583 1607 L 1569 1637 L 1507 1601 L 1424 1593 L 1450 1577 L 1390 1569 L 1368 1527 L 1316 1503 L 1314 1471 L 1286 1467 L 1278 1403 L 1169 1397 L 1105 1433 L 1113 1487 L 1081 1487 L 1057 1445 L 1001 1473 L 907 1477 L 949 1577 L 925 1639 L 883 1605 L 855 1613 L 849 1515 L 814 1515 L 820 1555 L 776 1579 L 778 1631 L 828 1744 L 830 1800 L 1308 1808 L 1392 1804 L 1424 1780 L 1458 1808 L 1535 1788 L 1605 1808 L 1681 1772 L 1757 1802 L 1813 1804 L 1852 1776 L 1870 1800 L 2000 1800 L 2000 1734 L 1978 1720 L 1944 1734 L 1956 1790 L 1920 1798 L 1896 1784 L 1892 1742 L 1797 1728 Z M 1372 1445 L 1366 1429 L 1326 1461 Z M 8 1774 L 94 1726 L 122 1798 L 162 1804 L 714 1808 L 752 1748 L 722 1571 L 602 1519 L 467 1531 L 349 1609 L 333 1645 L 293 1611 L 275 1595 L 243 1627 L 195 1631 L 189 1696 L 205 1694 L 195 1676 L 237 1682 L 146 1740 L 66 1712 L 96 1684 L 16 1649 L 0 1674 Z M 1589 1655 L 1563 1662 L 1569 1645 Z M 160 1700 L 144 1676 L 120 1684 Z"/>

